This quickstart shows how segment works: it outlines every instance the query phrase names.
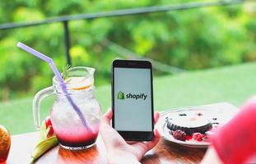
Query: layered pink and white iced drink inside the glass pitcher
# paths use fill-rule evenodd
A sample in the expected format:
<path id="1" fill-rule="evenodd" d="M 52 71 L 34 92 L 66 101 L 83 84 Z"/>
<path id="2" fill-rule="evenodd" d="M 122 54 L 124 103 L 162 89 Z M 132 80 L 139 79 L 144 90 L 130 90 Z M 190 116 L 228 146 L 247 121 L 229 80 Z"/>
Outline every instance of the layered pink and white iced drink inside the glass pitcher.
<path id="1" fill-rule="evenodd" d="M 71 150 L 90 148 L 99 133 L 100 105 L 94 98 L 90 98 L 90 103 L 86 98 L 73 98 L 86 118 L 88 126 L 85 126 L 72 107 L 67 106 L 67 102 L 63 99 L 60 96 L 56 99 L 50 114 L 59 144 Z"/>

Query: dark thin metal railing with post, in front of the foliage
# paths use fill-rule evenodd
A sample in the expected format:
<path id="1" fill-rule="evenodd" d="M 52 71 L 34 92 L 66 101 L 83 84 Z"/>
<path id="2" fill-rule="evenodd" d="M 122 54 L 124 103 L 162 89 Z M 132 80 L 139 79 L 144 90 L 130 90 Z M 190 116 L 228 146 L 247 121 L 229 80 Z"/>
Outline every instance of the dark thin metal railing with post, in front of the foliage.
<path id="1" fill-rule="evenodd" d="M 253 1 L 253 0 L 247 0 L 247 1 Z M 178 11 L 178 10 L 187 10 L 187 9 L 198 8 L 198 7 L 226 6 L 226 5 L 238 4 L 241 2 L 245 2 L 245 0 L 229 0 L 229 1 L 218 1 L 218 2 L 190 2 L 190 3 L 183 3 L 178 5 L 139 7 L 139 8 L 132 8 L 132 9 L 91 13 L 91 14 L 58 16 L 58 17 L 45 19 L 44 21 L 2 24 L 0 25 L 0 30 L 9 30 L 9 29 L 23 28 L 28 26 L 45 25 L 45 24 L 62 22 L 63 28 L 64 28 L 64 36 L 65 36 L 64 43 L 65 43 L 65 49 L 66 49 L 66 60 L 67 60 L 67 64 L 71 65 L 72 59 L 69 54 L 69 48 L 70 48 L 70 39 L 69 39 L 69 30 L 68 30 L 69 21 L 91 20 L 96 18 L 113 17 L 113 16 L 129 16 L 129 15 L 137 15 L 137 14 L 147 14 L 152 12 L 162 12 L 162 11 Z"/>

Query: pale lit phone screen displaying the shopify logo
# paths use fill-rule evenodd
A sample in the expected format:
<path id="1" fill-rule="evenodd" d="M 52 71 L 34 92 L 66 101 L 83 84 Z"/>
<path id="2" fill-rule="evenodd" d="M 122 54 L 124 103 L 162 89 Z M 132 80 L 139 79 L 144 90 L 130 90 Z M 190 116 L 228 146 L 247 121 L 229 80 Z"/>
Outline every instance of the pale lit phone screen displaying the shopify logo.
<path id="1" fill-rule="evenodd" d="M 151 131 L 151 69 L 114 67 L 114 129 Z"/>

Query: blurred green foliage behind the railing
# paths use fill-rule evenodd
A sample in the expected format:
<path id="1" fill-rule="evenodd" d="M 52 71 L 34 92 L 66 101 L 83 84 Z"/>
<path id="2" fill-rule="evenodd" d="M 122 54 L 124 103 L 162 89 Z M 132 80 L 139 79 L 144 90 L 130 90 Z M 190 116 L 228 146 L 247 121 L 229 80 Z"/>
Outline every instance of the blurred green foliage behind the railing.
<path id="1" fill-rule="evenodd" d="M 190 1 L 2 0 L 0 24 L 184 2 Z M 142 57 L 186 70 L 255 61 L 255 17 L 256 3 L 244 2 L 225 7 L 71 21 L 72 65 L 95 67 L 96 85 L 109 82 L 111 61 L 119 54 L 105 45 L 105 39 Z M 0 30 L 1 100 L 29 96 L 51 84 L 53 73 L 49 66 L 16 48 L 18 41 L 53 57 L 59 70 L 66 65 L 63 24 Z"/>

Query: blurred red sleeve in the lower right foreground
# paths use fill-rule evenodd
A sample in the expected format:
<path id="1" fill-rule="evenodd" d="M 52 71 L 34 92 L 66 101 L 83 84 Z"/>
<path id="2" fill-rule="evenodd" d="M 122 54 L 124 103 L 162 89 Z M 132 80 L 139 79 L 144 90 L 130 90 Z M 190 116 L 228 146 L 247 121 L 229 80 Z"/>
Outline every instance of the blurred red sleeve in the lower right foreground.
<path id="1" fill-rule="evenodd" d="M 211 136 L 212 145 L 226 164 L 246 162 L 256 153 L 256 97 Z"/>

